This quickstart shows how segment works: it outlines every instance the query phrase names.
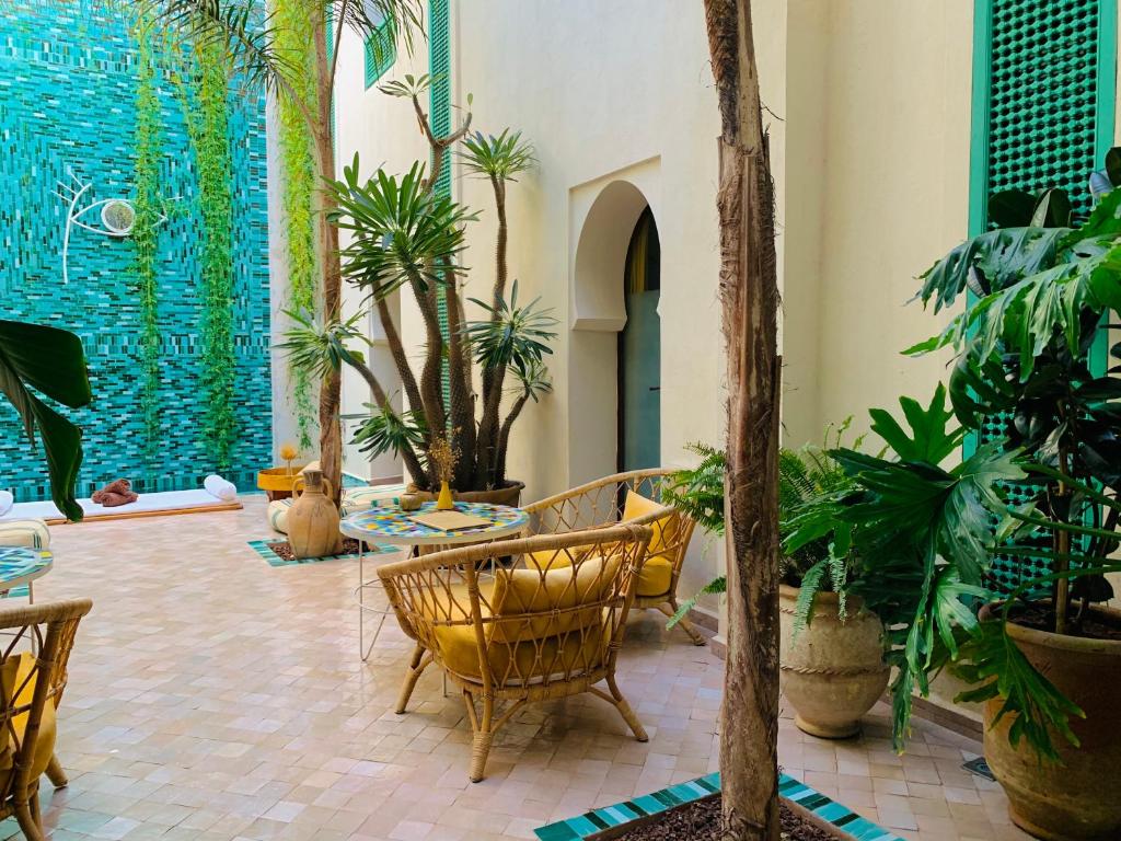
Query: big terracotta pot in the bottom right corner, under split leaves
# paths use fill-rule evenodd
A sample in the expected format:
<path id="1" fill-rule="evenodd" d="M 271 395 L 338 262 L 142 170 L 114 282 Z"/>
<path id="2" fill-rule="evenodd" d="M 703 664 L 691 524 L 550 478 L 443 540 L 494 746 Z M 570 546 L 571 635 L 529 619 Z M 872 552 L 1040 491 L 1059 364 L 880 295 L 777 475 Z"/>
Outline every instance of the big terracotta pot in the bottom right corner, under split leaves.
<path id="1" fill-rule="evenodd" d="M 981 619 L 997 608 L 986 606 Z M 1121 621 L 1121 611 L 1097 609 Z M 1048 841 L 1117 841 L 1121 839 L 1121 640 L 1060 637 L 1008 626 L 1023 656 L 1056 688 L 1082 708 L 1085 719 L 1072 719 L 1082 747 L 1060 734 L 1053 741 L 1060 765 L 1040 763 L 1022 740 L 1008 741 L 1012 717 L 993 723 L 998 701 L 985 705 L 984 752 L 997 782 L 1008 794 L 1009 814 L 1020 828 Z"/>

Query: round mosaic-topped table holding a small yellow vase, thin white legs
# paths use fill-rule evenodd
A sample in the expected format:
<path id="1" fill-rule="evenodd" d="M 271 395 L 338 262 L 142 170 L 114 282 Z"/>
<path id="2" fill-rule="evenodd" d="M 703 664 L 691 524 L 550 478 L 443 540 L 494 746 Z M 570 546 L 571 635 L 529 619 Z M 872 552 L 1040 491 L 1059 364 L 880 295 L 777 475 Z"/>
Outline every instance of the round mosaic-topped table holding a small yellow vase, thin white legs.
<path id="1" fill-rule="evenodd" d="M 489 521 L 487 526 L 476 528 L 460 528 L 453 532 L 444 532 L 417 523 L 413 519 L 418 514 L 433 514 L 436 510 L 435 502 L 425 502 L 416 511 L 402 511 L 396 505 L 374 506 L 364 511 L 343 517 L 339 524 L 339 530 L 346 537 L 358 540 L 358 586 L 354 592 L 358 597 L 359 629 L 358 645 L 362 659 L 370 656 L 381 627 L 386 622 L 386 617 L 392 609 L 386 603 L 385 598 L 379 599 L 376 604 L 367 603 L 365 591 L 378 590 L 385 594 L 381 580 L 373 577 L 365 579 L 365 544 L 390 544 L 393 546 L 407 547 L 410 552 L 414 547 L 424 546 L 426 548 L 448 548 L 457 544 L 483 543 L 495 540 L 500 537 L 509 537 L 522 532 L 529 521 L 529 515 L 520 508 L 510 506 L 495 506 L 487 502 L 456 502 L 455 510 L 473 517 L 479 517 Z M 378 625 L 373 631 L 370 645 L 365 645 L 365 614 L 377 613 Z"/>

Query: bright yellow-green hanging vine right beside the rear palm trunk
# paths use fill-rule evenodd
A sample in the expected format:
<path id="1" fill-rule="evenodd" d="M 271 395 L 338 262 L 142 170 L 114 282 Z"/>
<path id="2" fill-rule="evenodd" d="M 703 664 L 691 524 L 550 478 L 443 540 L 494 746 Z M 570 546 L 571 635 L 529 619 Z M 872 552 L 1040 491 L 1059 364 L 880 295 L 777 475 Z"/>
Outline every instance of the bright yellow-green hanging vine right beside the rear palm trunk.
<path id="1" fill-rule="evenodd" d="M 302 0 L 277 0 L 274 10 L 274 48 L 294 67 L 305 73 L 293 87 L 305 102 L 316 101 L 314 37 L 309 4 Z M 287 233 L 288 308 L 314 313 L 316 305 L 315 228 L 312 219 L 315 195 L 315 160 L 312 136 L 300 110 L 287 98 L 279 98 L 279 146 L 284 172 L 281 204 Z M 316 407 L 314 383 L 306 371 L 291 371 L 291 394 L 300 449 L 313 443 Z"/>

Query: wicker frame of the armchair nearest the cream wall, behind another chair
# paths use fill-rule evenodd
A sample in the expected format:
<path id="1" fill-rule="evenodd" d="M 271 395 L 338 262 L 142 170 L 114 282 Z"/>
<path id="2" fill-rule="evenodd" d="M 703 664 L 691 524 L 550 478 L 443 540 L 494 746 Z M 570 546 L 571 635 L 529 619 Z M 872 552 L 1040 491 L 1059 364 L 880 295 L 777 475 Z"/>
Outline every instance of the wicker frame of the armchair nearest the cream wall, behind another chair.
<path id="1" fill-rule="evenodd" d="M 657 501 L 669 474 L 661 468 L 615 473 L 525 506 L 530 532 L 555 535 L 626 523 L 650 526 L 654 539 L 634 589 L 634 608 L 654 608 L 673 617 L 678 607 L 677 581 L 695 524 Z M 694 645 L 705 644 L 688 619 L 678 625 Z"/>

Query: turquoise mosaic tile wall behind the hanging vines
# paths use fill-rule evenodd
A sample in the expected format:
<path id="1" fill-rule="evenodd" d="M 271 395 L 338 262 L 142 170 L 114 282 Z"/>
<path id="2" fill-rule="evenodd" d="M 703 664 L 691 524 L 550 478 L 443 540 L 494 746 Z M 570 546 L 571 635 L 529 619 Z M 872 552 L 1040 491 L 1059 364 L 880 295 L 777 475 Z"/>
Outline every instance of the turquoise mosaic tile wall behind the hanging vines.
<path id="1" fill-rule="evenodd" d="M 202 225 L 193 153 L 175 85 L 161 81 L 164 195 L 159 230 L 159 455 L 143 464 L 140 308 L 130 239 L 75 229 L 63 280 L 66 204 L 56 182 L 92 183 L 82 205 L 133 197 L 136 45 L 126 21 L 89 0 L 7 0 L 0 16 L 0 317 L 72 330 L 90 362 L 93 406 L 71 413 L 85 432 L 78 496 L 117 477 L 140 492 L 201 487 L 214 470 L 202 443 Z M 265 102 L 231 94 L 234 177 L 234 342 L 240 420 L 229 478 L 253 486 L 270 461 L 268 216 Z M 94 221 L 89 214 L 86 221 Z M 0 488 L 49 498 L 40 453 L 0 405 Z"/>

